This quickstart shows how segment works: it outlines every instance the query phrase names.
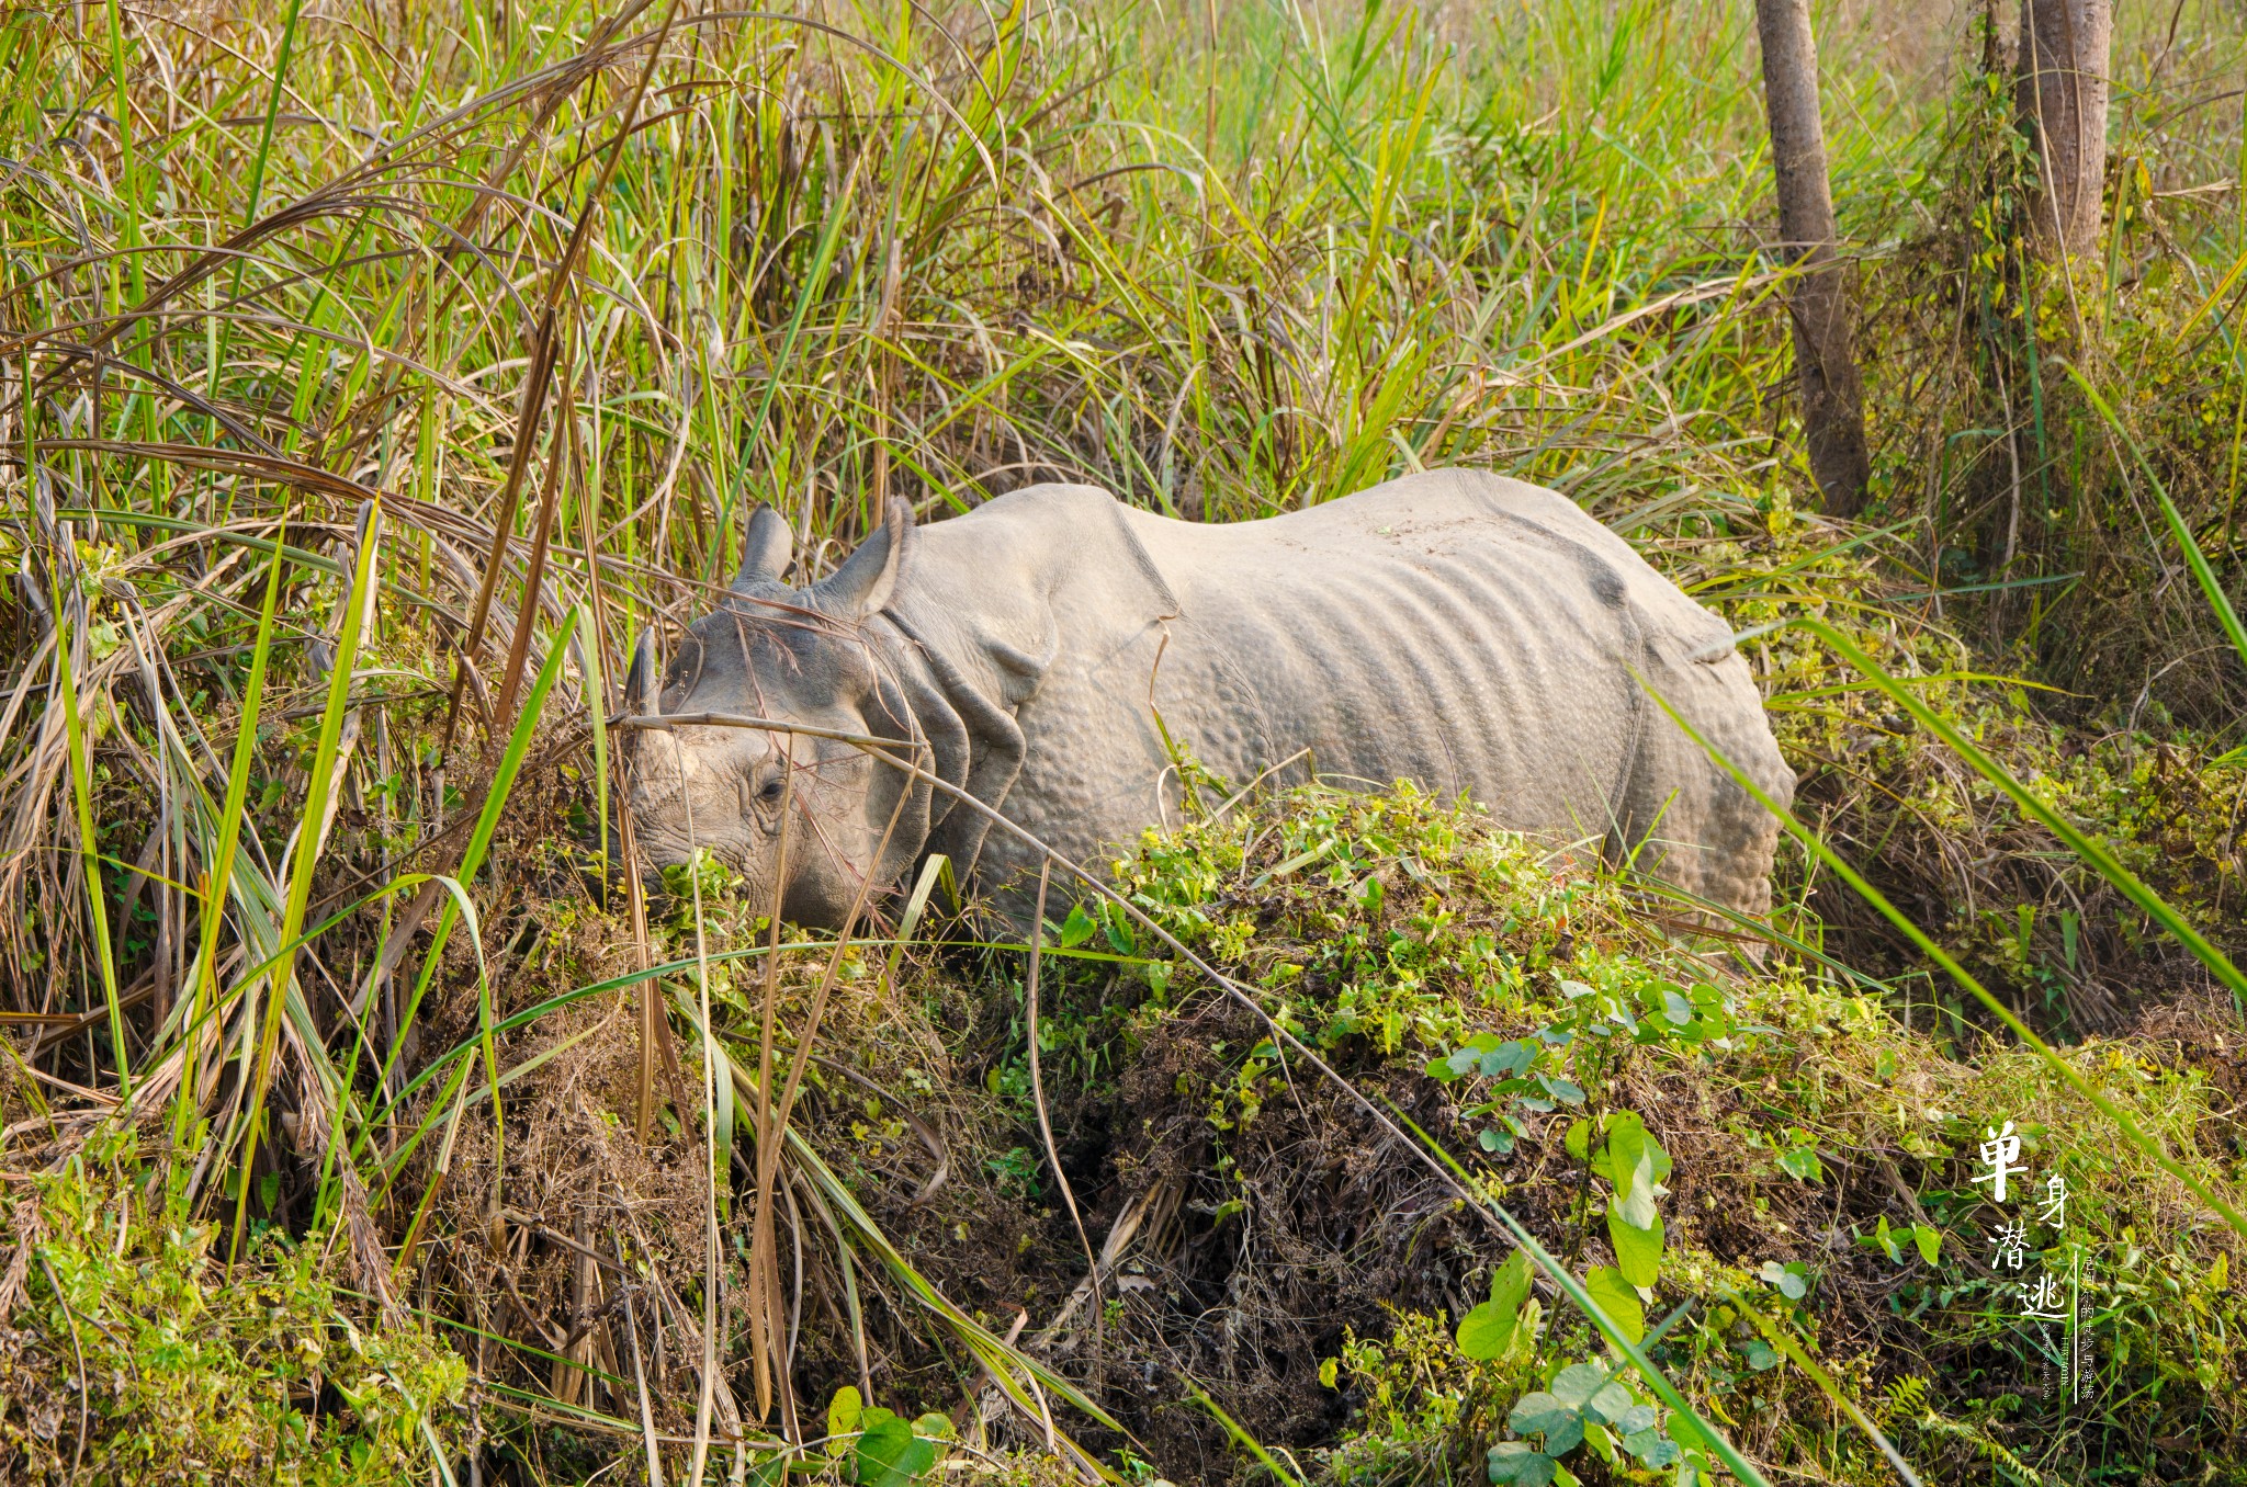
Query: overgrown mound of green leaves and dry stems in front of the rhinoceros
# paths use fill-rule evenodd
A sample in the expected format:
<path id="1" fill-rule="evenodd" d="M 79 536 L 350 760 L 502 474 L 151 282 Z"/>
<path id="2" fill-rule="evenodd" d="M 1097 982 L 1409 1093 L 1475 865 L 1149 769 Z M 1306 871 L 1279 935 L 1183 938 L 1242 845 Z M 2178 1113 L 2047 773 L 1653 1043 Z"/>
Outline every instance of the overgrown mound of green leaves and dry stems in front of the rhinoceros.
<path id="1" fill-rule="evenodd" d="M 1117 872 L 1274 1022 L 1461 1152 L 1595 1296 L 1629 1274 L 1611 1294 L 1634 1325 L 1679 1310 L 1652 1357 L 1757 1460 L 1890 1471 L 1780 1337 L 1852 1399 L 1887 1402 L 1923 1469 L 2009 1451 L 2065 1480 L 2166 1474 L 2243 1424 L 2236 1235 L 2027 1049 L 1905 1027 L 1894 988 L 1816 961 L 1683 939 L 1658 901 L 1411 788 L 1297 791 L 1150 836 Z M 1528 1440 L 1519 1399 L 1602 1354 L 1584 1321 L 1548 1298 L 1519 1345 L 1474 1357 L 1458 1328 L 1505 1244 L 1189 968 L 1146 979 L 1121 1085 L 1141 1114 L 1171 1098 L 1119 1173 L 1182 1182 L 1204 1217 L 1150 1258 L 1162 1280 L 1121 1354 L 1225 1377 L 1218 1399 L 1267 1442 L 1335 1431 L 1335 1480 L 1436 1480 Z M 2225 1027 L 2218 1002 L 2171 1002 L 2065 1058 L 2231 1186 L 2236 1096 L 2195 1067 L 2238 1047 Z M 2007 1121 L 2025 1175 L 1998 1204 L 1975 1177 Z M 1634 1238 L 1618 1152 L 1638 1130 L 1658 1217 Z M 2038 1222 L 2052 1175 L 2065 1213 Z M 2018 1256 L 1998 1244 L 2011 1224 Z M 1330 1287 L 1321 1312 L 1290 1305 L 1306 1271 Z M 2045 1274 L 2081 1294 L 2081 1386 L 2054 1361 L 2074 1334 L 2022 1316 Z M 1319 1384 L 1323 1413 L 1283 1404 Z M 1598 1453 L 1586 1440 L 1571 1449 Z"/>

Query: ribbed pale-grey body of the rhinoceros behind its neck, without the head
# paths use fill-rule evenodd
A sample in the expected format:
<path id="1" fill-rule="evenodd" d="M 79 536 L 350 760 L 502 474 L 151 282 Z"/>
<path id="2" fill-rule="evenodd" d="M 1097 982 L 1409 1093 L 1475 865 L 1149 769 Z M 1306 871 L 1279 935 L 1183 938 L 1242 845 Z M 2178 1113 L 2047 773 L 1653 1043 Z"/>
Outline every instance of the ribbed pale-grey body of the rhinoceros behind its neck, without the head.
<path id="1" fill-rule="evenodd" d="M 1411 779 L 1768 903 L 1775 822 L 1647 694 L 1784 795 L 1746 665 L 1721 620 L 1555 492 L 1447 469 L 1182 523 L 1038 487 L 926 535 L 946 528 L 950 562 L 1007 589 L 991 604 L 1043 615 L 1009 620 L 1038 683 L 1007 813 L 1056 847 L 1092 856 L 1177 820 L 1168 735 L 1236 782 L 1290 759 L 1283 777 Z M 995 838 L 986 854 L 982 876 L 1027 865 Z"/>

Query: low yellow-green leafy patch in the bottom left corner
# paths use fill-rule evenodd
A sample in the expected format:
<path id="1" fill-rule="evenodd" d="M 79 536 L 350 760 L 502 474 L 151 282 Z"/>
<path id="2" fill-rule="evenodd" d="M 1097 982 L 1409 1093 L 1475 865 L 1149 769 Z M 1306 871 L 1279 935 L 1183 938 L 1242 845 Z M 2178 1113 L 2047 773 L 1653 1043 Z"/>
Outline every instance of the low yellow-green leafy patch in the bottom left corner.
<path id="1" fill-rule="evenodd" d="M 427 1478 L 461 1357 L 342 1292 L 330 1235 L 267 1231 L 229 1278 L 225 1229 L 180 1222 L 162 1190 L 151 1206 L 128 1170 L 130 1150 L 85 1157 L 9 1202 L 16 1231 L 43 1238 L 0 1334 L 0 1476 Z"/>

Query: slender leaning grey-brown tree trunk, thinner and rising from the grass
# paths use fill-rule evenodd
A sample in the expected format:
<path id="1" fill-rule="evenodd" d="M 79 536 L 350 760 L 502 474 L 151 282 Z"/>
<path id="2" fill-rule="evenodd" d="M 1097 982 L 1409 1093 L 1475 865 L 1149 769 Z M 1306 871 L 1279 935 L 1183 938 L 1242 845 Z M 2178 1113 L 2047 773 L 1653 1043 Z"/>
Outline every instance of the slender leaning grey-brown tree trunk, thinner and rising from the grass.
<path id="1" fill-rule="evenodd" d="M 1800 270 L 1786 297 L 1802 384 L 1802 436 L 1825 510 L 1854 517 L 1865 505 L 1865 389 L 1849 344 L 1849 292 L 1834 254 L 1834 191 L 1818 124 L 1818 43 L 1809 0 L 1755 0 L 1764 43 L 1764 108 L 1777 177 L 1780 238 Z"/>

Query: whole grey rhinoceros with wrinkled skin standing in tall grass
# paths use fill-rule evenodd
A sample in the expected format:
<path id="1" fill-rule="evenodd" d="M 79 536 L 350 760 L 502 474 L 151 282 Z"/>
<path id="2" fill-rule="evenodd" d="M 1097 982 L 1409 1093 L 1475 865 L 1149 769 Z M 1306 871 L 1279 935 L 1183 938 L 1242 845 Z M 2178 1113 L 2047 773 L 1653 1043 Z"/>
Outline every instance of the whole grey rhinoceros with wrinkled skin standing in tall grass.
<path id="1" fill-rule="evenodd" d="M 692 624 L 661 696 L 643 636 L 631 710 L 926 744 L 941 779 L 1094 872 L 1180 820 L 1166 728 L 1236 784 L 1308 750 L 1274 779 L 1465 791 L 1503 827 L 1771 905 L 1777 820 L 1647 694 L 1786 802 L 1746 663 L 1721 620 L 1550 490 L 1440 469 L 1200 526 L 1036 485 L 926 528 L 892 501 L 831 577 L 791 589 L 786 566 L 786 523 L 759 508 L 733 597 Z M 852 744 L 710 726 L 636 739 L 654 867 L 699 842 L 755 894 L 784 872 L 784 914 L 836 925 L 867 874 L 894 885 L 944 851 L 1027 919 L 1036 854 Z"/>

